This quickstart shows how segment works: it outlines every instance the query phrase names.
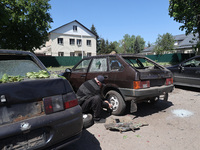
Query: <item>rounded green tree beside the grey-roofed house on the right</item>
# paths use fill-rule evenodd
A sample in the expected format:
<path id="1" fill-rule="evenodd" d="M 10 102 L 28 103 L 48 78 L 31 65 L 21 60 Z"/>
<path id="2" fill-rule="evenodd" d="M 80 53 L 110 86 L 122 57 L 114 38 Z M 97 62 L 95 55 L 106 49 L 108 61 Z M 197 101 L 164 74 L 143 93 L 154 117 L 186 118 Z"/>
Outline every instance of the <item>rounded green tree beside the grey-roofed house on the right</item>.
<path id="1" fill-rule="evenodd" d="M 166 51 L 170 51 L 174 49 L 174 37 L 170 33 L 166 33 L 163 35 L 158 35 L 156 40 L 156 46 L 154 47 L 154 51 L 156 54 L 163 54 Z"/>

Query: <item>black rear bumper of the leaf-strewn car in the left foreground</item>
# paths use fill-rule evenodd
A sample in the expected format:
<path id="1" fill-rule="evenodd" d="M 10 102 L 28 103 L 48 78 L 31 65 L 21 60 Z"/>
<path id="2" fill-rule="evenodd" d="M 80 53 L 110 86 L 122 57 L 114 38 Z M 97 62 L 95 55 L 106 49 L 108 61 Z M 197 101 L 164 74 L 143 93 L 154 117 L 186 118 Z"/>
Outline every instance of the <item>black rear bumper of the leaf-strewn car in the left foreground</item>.
<path id="1" fill-rule="evenodd" d="M 21 125 L 23 123 L 28 123 L 30 129 L 22 131 Z M 41 145 L 35 145 L 35 147 L 32 147 L 33 149 L 47 148 L 62 143 L 62 141 L 66 141 L 67 143 L 62 143 L 66 145 L 80 137 L 82 127 L 82 110 L 79 105 L 54 114 L 37 116 L 16 123 L 2 125 L 0 126 L 0 141 L 4 142 L 1 142 L 0 149 L 4 146 L 17 145 L 18 143 L 14 139 L 30 137 L 30 135 L 32 136 L 34 132 L 38 131 L 44 132 L 44 134 L 41 134 L 44 136 L 44 142 Z M 23 142 L 26 143 L 27 141 Z M 26 145 L 24 148 L 26 149 Z"/>

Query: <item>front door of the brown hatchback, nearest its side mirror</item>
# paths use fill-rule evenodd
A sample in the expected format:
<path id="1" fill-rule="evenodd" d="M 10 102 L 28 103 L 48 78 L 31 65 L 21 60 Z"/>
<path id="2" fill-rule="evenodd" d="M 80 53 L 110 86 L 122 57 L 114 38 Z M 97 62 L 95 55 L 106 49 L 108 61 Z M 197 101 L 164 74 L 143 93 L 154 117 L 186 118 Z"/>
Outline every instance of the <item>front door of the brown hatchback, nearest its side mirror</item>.
<path id="1" fill-rule="evenodd" d="M 75 91 L 86 81 L 87 71 L 92 58 L 83 59 L 71 70 L 70 83 Z"/>

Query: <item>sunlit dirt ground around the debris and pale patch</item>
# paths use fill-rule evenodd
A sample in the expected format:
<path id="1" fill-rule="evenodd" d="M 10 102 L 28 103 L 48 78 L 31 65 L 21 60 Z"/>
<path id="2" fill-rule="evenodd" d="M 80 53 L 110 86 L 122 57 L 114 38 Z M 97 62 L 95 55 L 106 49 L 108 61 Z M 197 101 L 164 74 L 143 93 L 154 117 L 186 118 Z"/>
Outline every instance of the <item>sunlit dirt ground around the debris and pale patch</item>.
<path id="1" fill-rule="evenodd" d="M 199 150 L 200 91 L 176 87 L 168 101 L 154 105 L 142 103 L 138 111 L 124 116 L 135 124 L 147 123 L 139 130 L 117 132 L 106 130 L 105 123 L 94 124 L 83 131 L 79 141 L 66 150 Z"/>

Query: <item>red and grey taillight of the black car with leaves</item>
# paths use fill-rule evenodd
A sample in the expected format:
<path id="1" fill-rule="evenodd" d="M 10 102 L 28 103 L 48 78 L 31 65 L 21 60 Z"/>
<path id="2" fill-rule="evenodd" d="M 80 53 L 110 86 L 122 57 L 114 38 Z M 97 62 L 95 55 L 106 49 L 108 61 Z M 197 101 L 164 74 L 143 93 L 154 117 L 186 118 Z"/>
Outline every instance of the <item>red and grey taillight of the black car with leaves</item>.
<path id="1" fill-rule="evenodd" d="M 74 93 L 45 97 L 43 98 L 43 102 L 46 114 L 62 111 L 78 105 L 78 100 Z"/>

